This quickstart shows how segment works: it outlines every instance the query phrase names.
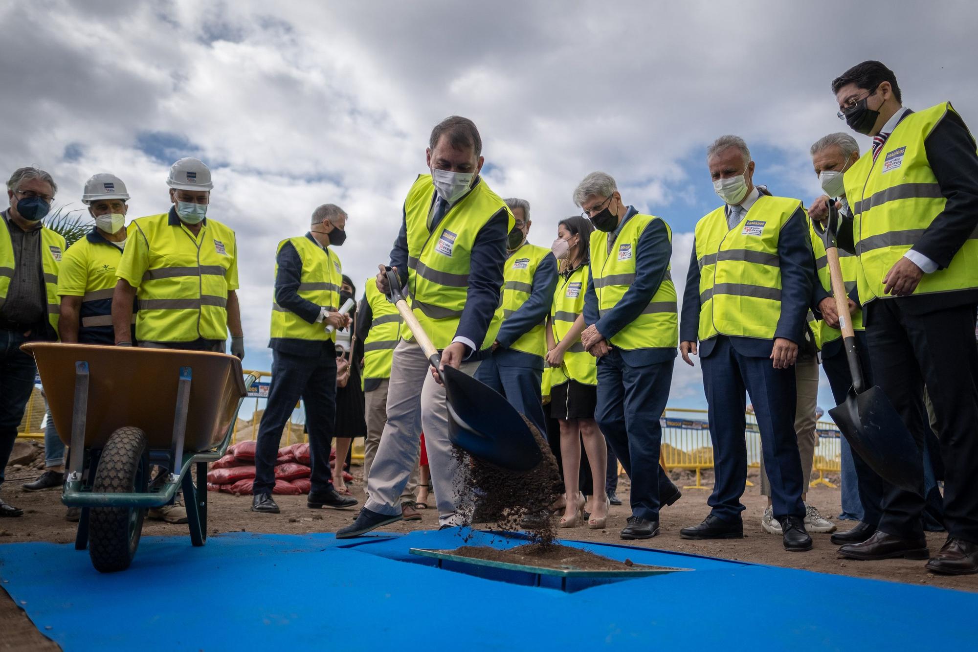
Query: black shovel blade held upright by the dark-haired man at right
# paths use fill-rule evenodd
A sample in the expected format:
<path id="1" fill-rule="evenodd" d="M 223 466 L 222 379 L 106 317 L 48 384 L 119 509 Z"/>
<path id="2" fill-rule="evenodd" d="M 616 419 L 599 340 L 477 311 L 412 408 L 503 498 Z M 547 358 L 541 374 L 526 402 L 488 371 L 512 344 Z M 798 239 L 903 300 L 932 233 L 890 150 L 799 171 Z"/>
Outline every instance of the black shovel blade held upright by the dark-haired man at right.
<path id="1" fill-rule="evenodd" d="M 923 452 L 890 399 L 878 387 L 849 396 L 828 410 L 853 450 L 879 477 L 895 487 L 923 494 Z"/>

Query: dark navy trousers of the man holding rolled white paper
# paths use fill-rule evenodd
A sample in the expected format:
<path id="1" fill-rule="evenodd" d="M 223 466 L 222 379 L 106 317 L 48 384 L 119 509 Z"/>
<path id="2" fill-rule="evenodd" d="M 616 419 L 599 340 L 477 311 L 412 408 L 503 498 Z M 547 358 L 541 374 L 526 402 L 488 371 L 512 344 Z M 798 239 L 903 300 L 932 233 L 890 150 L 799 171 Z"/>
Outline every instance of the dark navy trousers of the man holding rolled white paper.
<path id="1" fill-rule="evenodd" d="M 306 413 L 311 458 L 311 491 L 322 493 L 333 486 L 330 448 L 336 421 L 336 357 L 332 347 L 321 355 L 292 355 L 272 349 L 272 383 L 268 404 L 261 417 L 254 453 L 254 486 L 251 492 L 271 493 L 275 487 L 275 461 L 282 430 L 298 399 Z M 337 460 L 337 464 L 342 464 Z"/>

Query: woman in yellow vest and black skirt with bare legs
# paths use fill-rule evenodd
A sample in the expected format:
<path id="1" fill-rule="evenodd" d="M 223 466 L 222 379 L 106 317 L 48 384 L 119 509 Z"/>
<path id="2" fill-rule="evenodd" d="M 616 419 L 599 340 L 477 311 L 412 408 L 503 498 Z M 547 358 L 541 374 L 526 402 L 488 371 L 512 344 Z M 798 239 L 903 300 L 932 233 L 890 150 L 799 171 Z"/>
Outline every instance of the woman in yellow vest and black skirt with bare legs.
<path id="1" fill-rule="evenodd" d="M 581 345 L 584 331 L 584 293 L 591 260 L 591 222 L 574 215 L 560 220 L 552 250 L 560 260 L 554 303 L 547 319 L 547 363 L 551 367 L 551 416 L 560 424 L 560 459 L 563 471 L 561 528 L 581 525 L 586 500 L 580 490 L 581 441 L 591 465 L 594 494 L 588 527 L 600 530 L 607 522 L 604 492 L 607 448 L 595 421 L 598 372 L 595 358 Z"/>

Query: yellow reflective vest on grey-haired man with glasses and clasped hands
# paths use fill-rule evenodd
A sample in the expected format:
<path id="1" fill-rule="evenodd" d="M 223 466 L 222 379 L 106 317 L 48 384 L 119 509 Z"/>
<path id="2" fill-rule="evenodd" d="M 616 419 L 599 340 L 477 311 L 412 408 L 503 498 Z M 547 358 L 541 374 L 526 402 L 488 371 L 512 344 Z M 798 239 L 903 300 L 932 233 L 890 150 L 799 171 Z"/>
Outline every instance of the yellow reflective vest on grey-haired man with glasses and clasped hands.
<path id="1" fill-rule="evenodd" d="M 625 296 L 635 283 L 635 255 L 639 238 L 654 220 L 660 220 L 672 242 L 672 229 L 665 220 L 637 213 L 626 221 L 608 248 L 610 233 L 591 234 L 591 275 L 598 295 L 598 312 L 603 315 Z M 611 337 L 611 345 L 620 349 L 673 349 L 679 345 L 679 313 L 676 287 L 669 267 L 648 305 L 630 324 Z"/>

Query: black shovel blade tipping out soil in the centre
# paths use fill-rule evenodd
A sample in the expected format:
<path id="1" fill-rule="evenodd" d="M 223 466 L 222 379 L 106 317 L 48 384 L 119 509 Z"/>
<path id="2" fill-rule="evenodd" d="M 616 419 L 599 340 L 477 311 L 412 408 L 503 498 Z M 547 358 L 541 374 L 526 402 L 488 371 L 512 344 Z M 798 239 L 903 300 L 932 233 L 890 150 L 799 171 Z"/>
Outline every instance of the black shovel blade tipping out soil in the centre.
<path id="1" fill-rule="evenodd" d="M 445 367 L 442 380 L 452 443 L 472 457 L 511 471 L 529 471 L 540 463 L 540 446 L 510 401 L 454 367 Z"/>

